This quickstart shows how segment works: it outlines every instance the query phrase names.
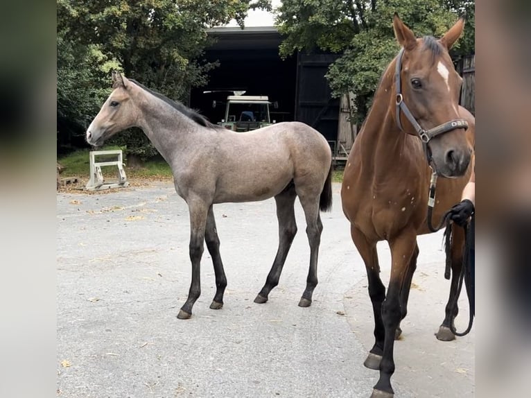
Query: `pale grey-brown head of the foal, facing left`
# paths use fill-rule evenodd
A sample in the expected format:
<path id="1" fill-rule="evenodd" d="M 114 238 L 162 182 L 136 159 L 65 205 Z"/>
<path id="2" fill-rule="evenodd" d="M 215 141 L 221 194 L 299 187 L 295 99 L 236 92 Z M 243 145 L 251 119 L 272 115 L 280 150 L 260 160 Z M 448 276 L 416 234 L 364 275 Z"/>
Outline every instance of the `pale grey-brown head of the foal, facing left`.
<path id="1" fill-rule="evenodd" d="M 137 112 L 130 101 L 132 86 L 121 73 L 112 72 L 112 93 L 87 129 L 89 144 L 101 146 L 116 132 L 135 126 Z"/>

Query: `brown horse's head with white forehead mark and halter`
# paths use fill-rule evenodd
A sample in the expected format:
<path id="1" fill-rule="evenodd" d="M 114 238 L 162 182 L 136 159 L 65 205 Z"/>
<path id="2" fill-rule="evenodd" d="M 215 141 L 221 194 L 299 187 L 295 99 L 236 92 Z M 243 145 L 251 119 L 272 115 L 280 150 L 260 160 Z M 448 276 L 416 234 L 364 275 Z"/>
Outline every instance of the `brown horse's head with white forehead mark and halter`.
<path id="1" fill-rule="evenodd" d="M 444 177 L 463 175 L 471 159 L 468 124 L 459 113 L 462 78 L 449 55 L 463 27 L 460 18 L 439 40 L 417 39 L 396 13 L 393 19 L 402 46 L 394 72 L 395 119 L 401 130 L 420 137 L 430 166 Z"/>

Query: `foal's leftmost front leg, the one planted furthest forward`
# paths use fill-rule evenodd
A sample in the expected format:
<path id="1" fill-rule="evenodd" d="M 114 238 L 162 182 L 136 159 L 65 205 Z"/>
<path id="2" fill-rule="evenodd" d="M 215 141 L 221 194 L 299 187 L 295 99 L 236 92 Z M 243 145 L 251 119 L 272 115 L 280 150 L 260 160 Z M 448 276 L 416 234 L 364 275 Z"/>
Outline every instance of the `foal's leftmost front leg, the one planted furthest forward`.
<path id="1" fill-rule="evenodd" d="M 199 198 L 188 199 L 190 211 L 190 260 L 192 263 L 192 280 L 186 302 L 181 307 L 179 319 L 189 319 L 192 316 L 192 307 L 201 294 L 200 264 L 204 250 L 204 230 L 207 225 L 207 212 L 209 205 L 205 205 Z"/>

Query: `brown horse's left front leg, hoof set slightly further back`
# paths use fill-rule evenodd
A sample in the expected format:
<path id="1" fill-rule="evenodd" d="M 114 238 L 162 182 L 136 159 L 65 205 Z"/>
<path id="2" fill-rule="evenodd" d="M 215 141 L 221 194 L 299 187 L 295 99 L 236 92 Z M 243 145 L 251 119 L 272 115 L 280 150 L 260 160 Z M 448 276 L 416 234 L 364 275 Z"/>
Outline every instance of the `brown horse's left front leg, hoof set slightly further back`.
<path id="1" fill-rule="evenodd" d="M 372 312 L 374 314 L 374 345 L 369 351 L 369 355 L 363 365 L 369 369 L 380 369 L 380 361 L 383 355 L 383 340 L 385 330 L 382 321 L 382 303 L 385 300 L 385 286 L 380 278 L 380 264 L 378 263 L 378 252 L 376 243 L 367 241 L 367 238 L 356 228 L 350 225 L 350 234 L 356 249 L 360 253 L 365 269 L 367 270 L 367 282 L 369 297 L 372 302 Z"/>

